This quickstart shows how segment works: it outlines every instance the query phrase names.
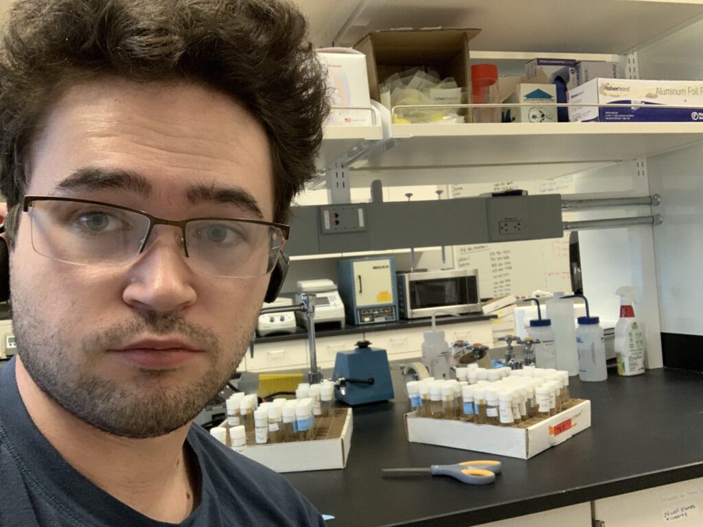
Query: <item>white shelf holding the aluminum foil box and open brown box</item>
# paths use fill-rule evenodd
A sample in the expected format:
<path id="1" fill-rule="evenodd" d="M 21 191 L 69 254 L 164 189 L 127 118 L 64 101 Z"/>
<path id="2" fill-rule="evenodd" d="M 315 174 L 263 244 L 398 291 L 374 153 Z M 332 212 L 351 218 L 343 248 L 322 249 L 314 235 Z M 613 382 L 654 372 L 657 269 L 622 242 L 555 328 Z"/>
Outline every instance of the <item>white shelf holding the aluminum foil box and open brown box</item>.
<path id="1" fill-rule="evenodd" d="M 353 165 L 365 170 L 602 164 L 662 154 L 703 141 L 699 122 L 393 124 L 392 148 Z M 567 171 L 563 171 L 567 173 Z"/>

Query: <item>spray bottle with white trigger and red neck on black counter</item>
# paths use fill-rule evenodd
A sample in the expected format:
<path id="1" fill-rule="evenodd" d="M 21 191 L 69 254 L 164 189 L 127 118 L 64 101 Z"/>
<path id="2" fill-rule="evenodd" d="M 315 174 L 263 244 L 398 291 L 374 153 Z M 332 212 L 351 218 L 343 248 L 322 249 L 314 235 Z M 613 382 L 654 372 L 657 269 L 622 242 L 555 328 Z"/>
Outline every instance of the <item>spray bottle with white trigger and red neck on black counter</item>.
<path id="1" fill-rule="evenodd" d="M 645 344 L 642 327 L 635 318 L 634 289 L 631 286 L 619 287 L 620 318 L 615 325 L 615 355 L 617 372 L 630 377 L 645 372 Z"/>

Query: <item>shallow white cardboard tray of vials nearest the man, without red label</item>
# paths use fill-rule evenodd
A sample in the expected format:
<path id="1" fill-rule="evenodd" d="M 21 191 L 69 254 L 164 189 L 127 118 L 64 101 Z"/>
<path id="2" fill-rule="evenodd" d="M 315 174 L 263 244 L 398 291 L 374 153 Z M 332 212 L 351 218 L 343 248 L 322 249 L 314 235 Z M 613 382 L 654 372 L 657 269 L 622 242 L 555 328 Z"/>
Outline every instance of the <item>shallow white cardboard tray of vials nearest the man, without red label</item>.
<path id="1" fill-rule="evenodd" d="M 331 422 L 321 425 L 314 441 L 249 445 L 242 453 L 276 472 L 343 469 L 353 429 L 352 408 L 335 408 Z"/>

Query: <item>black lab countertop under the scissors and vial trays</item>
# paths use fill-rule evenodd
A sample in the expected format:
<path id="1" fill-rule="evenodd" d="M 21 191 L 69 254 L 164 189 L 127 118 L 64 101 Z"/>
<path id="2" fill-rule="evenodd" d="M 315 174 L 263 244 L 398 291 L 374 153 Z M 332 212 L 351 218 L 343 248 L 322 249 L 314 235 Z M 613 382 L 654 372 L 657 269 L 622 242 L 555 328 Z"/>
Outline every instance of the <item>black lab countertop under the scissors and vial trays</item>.
<path id="1" fill-rule="evenodd" d="M 703 375 L 648 370 L 606 382 L 570 379 L 572 396 L 591 400 L 591 428 L 530 460 L 408 443 L 397 365 L 396 398 L 354 408 L 347 468 L 285 474 L 330 527 L 471 526 L 703 477 Z M 498 459 L 489 486 L 451 478 L 385 476 L 382 468 L 430 467 Z"/>

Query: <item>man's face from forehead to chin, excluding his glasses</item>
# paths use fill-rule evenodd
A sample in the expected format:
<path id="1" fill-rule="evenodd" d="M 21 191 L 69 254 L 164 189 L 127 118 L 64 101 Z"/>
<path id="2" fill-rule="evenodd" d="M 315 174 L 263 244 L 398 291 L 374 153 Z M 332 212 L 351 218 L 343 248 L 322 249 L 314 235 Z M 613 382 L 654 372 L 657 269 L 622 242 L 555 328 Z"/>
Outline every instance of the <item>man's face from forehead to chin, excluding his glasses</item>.
<path id="1" fill-rule="evenodd" d="M 28 177 L 27 195 L 168 220 L 273 219 L 264 129 L 193 84 L 105 78 L 74 87 L 37 138 Z M 112 434 L 158 436 L 193 419 L 231 377 L 262 306 L 268 276 L 199 274 L 180 235 L 156 226 L 130 263 L 79 266 L 37 254 L 22 214 L 11 254 L 22 364 L 63 408 Z"/>

